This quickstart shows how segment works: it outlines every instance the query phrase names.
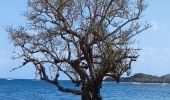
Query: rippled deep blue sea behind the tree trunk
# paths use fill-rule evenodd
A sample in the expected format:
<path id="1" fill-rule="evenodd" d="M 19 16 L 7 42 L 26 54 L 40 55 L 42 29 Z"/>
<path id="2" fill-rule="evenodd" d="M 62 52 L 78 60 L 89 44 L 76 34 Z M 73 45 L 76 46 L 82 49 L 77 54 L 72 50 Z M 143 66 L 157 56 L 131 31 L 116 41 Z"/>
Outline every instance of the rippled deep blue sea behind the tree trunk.
<path id="1" fill-rule="evenodd" d="M 61 81 L 74 88 L 70 81 Z M 170 100 L 170 84 L 104 82 L 103 100 Z M 0 100 L 80 100 L 58 91 L 56 86 L 36 79 L 0 79 Z"/>

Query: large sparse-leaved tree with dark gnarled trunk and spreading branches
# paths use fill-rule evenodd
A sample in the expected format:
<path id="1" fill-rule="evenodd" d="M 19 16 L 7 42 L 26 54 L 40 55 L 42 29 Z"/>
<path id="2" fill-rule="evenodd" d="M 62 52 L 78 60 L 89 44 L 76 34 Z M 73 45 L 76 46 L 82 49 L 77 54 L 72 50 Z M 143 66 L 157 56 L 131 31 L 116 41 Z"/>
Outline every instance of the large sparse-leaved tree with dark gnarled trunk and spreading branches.
<path id="1" fill-rule="evenodd" d="M 28 0 L 28 7 L 27 26 L 6 29 L 20 67 L 32 63 L 42 80 L 82 100 L 101 100 L 103 78 L 131 69 L 133 37 L 150 27 L 139 20 L 143 0 Z M 60 73 L 80 89 L 62 86 Z"/>

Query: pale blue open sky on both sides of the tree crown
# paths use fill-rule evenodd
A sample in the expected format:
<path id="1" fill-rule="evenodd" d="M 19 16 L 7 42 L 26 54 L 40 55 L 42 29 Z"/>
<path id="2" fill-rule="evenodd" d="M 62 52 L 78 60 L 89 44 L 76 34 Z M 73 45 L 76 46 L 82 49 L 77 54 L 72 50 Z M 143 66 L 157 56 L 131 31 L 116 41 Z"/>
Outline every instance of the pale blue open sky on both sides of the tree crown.
<path id="1" fill-rule="evenodd" d="M 145 0 L 148 8 L 143 19 L 152 24 L 152 28 L 137 36 L 142 48 L 137 62 L 133 63 L 133 73 L 147 73 L 161 76 L 170 73 L 170 0 Z M 0 3 L 0 78 L 34 78 L 34 69 L 25 66 L 14 72 L 10 70 L 22 64 L 13 60 L 14 47 L 10 43 L 5 26 L 18 26 L 26 23 L 22 16 L 26 11 L 26 0 L 2 0 Z"/>

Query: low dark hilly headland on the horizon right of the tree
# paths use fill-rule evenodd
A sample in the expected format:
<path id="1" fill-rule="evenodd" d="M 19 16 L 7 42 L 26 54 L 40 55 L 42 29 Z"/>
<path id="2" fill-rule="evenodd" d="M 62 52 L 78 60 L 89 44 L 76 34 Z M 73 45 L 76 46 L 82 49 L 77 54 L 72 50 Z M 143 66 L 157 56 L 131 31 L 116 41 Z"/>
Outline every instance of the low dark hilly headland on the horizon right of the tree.
<path id="1" fill-rule="evenodd" d="M 114 79 L 108 77 L 105 81 L 114 81 Z M 121 77 L 120 82 L 170 83 L 170 74 L 158 77 L 149 74 L 137 73 L 131 77 Z"/>

